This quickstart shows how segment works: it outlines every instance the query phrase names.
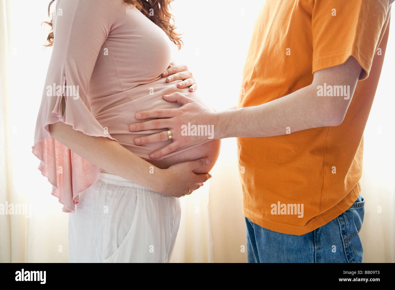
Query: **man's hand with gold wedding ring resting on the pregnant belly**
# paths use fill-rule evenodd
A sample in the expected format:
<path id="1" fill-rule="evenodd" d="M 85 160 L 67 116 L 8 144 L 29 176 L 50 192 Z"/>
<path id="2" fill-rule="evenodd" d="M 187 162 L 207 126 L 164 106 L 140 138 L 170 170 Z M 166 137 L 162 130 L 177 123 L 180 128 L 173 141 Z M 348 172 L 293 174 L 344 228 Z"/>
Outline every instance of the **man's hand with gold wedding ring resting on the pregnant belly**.
<path id="1" fill-rule="evenodd" d="M 210 139 L 218 139 L 215 137 L 215 112 L 203 107 L 198 102 L 186 97 L 185 95 L 176 92 L 170 95 L 164 95 L 163 98 L 169 102 L 177 102 L 182 105 L 177 109 L 160 109 L 138 112 L 135 115 L 137 120 L 155 119 L 141 123 L 131 124 L 129 129 L 132 132 L 164 129 L 164 131 L 152 134 L 145 137 L 138 137 L 134 139 L 136 145 L 143 145 L 147 143 L 155 143 L 163 140 L 168 140 L 166 129 L 171 131 L 173 142 L 164 148 L 150 154 L 151 159 L 163 157 L 181 147 L 190 145 L 200 145 Z M 188 128 L 190 125 L 206 125 L 211 130 L 210 136 L 189 136 Z M 185 128 L 184 127 L 184 128 Z M 213 130 L 214 128 L 214 130 Z M 191 134 L 192 135 L 192 134 Z"/>

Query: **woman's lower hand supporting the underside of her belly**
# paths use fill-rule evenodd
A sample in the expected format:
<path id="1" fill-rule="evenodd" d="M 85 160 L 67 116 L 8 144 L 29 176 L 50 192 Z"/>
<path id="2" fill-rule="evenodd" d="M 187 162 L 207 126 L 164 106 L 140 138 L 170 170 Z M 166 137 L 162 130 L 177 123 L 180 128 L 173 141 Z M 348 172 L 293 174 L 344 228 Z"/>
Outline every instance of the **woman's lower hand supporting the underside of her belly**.
<path id="1" fill-rule="evenodd" d="M 167 169 L 162 169 L 156 191 L 169 196 L 181 197 L 203 185 L 203 182 L 211 178 L 211 174 L 196 174 L 193 170 L 203 168 L 212 162 L 209 158 L 201 158 L 195 161 L 182 162 Z"/>

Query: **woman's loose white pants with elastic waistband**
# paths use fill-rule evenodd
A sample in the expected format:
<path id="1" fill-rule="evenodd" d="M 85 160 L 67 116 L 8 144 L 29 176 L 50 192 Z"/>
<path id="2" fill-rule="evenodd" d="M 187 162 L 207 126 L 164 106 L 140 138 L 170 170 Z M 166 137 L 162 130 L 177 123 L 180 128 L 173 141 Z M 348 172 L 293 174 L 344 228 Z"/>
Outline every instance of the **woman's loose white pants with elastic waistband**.
<path id="1" fill-rule="evenodd" d="M 168 262 L 179 228 L 178 198 L 99 173 L 69 214 L 70 262 Z"/>

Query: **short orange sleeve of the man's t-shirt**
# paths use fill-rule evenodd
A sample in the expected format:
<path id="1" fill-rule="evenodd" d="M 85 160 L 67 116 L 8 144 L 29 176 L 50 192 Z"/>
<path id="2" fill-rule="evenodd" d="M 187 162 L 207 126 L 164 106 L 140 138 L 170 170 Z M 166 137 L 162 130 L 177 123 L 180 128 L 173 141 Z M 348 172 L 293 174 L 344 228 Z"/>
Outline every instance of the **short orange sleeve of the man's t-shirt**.
<path id="1" fill-rule="evenodd" d="M 366 79 L 380 34 L 387 25 L 389 0 L 315 0 L 312 12 L 312 73 L 354 58 Z"/>

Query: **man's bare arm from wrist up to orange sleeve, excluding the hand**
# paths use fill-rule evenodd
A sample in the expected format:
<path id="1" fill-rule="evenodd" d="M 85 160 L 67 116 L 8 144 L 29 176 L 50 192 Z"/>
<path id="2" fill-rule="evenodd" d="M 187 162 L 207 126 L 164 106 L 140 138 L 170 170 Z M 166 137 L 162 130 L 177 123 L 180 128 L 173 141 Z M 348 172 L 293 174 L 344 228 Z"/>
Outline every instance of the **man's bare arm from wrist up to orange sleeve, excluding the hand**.
<path id="1" fill-rule="evenodd" d="M 360 73 L 361 66 L 350 57 L 344 64 L 317 71 L 309 86 L 292 94 L 259 106 L 219 112 L 214 123 L 216 137 L 269 137 L 286 134 L 286 127 L 297 132 L 340 125 Z M 327 88 L 346 86 L 348 96 L 318 96 L 318 86 L 324 83 Z"/>

